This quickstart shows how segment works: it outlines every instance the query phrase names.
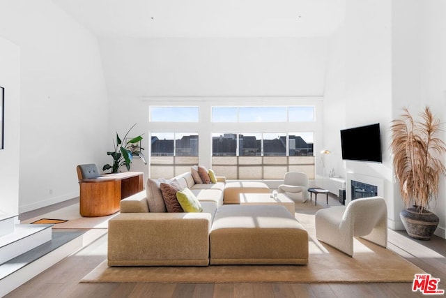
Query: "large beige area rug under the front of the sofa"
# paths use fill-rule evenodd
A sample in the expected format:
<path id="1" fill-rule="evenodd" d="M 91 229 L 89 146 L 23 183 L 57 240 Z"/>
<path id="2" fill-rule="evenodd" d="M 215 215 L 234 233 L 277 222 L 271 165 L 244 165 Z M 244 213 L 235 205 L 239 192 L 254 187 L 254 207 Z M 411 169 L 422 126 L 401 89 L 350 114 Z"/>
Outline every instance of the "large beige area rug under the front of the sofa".
<path id="1" fill-rule="evenodd" d="M 108 267 L 102 262 L 82 283 L 391 283 L 412 282 L 422 269 L 389 249 L 355 239 L 353 258 L 311 238 L 308 265 Z"/>

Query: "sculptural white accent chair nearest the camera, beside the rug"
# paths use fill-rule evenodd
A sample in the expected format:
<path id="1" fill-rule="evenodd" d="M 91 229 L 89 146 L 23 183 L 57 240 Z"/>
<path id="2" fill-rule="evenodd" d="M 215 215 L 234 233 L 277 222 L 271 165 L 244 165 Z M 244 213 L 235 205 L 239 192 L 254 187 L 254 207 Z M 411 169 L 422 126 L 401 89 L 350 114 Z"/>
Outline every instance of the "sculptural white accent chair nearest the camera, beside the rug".
<path id="1" fill-rule="evenodd" d="M 316 212 L 316 238 L 353 257 L 353 237 L 387 247 L 387 206 L 380 197 Z"/>

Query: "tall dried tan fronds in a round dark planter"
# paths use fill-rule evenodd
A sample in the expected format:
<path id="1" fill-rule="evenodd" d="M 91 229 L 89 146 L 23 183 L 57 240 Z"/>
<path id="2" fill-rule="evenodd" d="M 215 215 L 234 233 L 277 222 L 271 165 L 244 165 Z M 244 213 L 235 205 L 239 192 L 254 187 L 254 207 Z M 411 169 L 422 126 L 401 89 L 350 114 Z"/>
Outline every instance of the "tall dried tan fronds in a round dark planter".
<path id="1" fill-rule="evenodd" d="M 410 237 L 429 240 L 439 223 L 428 208 L 438 197 L 440 176 L 446 172 L 441 159 L 446 146 L 437 136 L 440 121 L 429 107 L 420 113 L 422 121 L 415 121 L 407 109 L 403 111 L 400 119 L 392 121 L 390 144 L 405 207 L 400 217 Z"/>

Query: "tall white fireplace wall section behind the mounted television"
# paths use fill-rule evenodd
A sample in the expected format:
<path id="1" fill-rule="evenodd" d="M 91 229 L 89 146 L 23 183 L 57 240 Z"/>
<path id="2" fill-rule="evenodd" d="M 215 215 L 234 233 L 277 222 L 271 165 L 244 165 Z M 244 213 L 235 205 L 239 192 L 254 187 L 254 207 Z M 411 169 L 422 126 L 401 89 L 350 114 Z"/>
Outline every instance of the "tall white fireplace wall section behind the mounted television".
<path id="1" fill-rule="evenodd" d="M 390 152 L 392 119 L 392 2 L 346 2 L 346 127 L 380 124 L 383 163 L 346 161 L 348 174 L 383 179 L 390 228 L 399 221 L 394 207 Z M 347 186 L 350 187 L 350 186 Z M 347 190 L 347 201 L 351 193 Z"/>

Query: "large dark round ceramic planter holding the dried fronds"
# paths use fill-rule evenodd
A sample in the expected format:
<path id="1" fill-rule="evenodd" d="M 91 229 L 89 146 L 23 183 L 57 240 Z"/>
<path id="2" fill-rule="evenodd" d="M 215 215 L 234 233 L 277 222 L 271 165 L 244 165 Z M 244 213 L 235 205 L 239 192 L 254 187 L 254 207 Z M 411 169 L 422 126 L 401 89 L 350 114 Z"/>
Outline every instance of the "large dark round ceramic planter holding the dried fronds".
<path id="1" fill-rule="evenodd" d="M 424 210 L 420 213 L 415 207 L 403 209 L 399 213 L 399 217 L 409 236 L 419 240 L 431 239 L 440 222 L 440 218 L 431 211 Z"/>

